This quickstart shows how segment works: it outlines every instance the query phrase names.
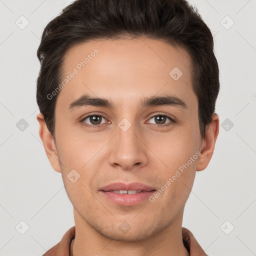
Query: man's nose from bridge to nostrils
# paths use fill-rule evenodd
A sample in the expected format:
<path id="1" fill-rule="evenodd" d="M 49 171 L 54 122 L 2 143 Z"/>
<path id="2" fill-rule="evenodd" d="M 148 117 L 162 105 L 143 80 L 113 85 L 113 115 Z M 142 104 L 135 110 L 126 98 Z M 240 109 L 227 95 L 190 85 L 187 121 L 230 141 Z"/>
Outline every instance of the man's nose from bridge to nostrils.
<path id="1" fill-rule="evenodd" d="M 116 125 L 116 135 L 109 148 L 109 164 L 123 170 L 134 170 L 148 162 L 143 135 L 135 124 L 130 124 L 124 120 L 119 126 Z M 126 130 L 127 125 L 130 127 Z"/>

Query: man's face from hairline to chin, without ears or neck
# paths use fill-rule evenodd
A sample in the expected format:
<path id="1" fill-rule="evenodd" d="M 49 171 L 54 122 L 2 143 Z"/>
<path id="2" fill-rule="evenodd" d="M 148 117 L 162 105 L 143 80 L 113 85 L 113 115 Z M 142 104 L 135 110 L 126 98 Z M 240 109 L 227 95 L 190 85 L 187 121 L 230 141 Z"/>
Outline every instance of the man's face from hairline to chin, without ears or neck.
<path id="1" fill-rule="evenodd" d="M 203 147 L 189 54 L 146 38 L 93 40 L 67 51 L 63 80 L 67 75 L 55 107 L 60 164 L 51 163 L 76 220 L 125 241 L 181 221 Z M 154 191 L 102 191 L 113 182 Z"/>

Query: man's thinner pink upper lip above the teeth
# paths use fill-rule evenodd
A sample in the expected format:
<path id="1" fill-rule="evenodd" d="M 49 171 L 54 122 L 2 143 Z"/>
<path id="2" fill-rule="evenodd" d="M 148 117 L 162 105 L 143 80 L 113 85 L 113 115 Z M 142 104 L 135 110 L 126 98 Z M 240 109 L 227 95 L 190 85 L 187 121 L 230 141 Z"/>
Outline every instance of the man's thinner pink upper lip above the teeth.
<path id="1" fill-rule="evenodd" d="M 132 182 L 132 183 L 123 183 L 123 182 L 114 182 L 99 188 L 99 190 L 103 191 L 111 191 L 111 190 L 144 190 L 144 191 L 151 191 L 155 190 L 155 188 L 139 183 L 139 182 Z"/>

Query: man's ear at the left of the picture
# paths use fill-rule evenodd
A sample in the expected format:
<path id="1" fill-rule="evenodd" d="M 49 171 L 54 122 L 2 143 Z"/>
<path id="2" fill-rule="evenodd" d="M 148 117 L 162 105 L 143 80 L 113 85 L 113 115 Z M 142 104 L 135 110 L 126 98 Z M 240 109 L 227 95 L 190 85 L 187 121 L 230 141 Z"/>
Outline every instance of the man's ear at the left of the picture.
<path id="1" fill-rule="evenodd" d="M 38 113 L 36 116 L 37 121 L 39 122 L 39 135 L 43 143 L 46 155 L 50 161 L 52 168 L 60 172 L 58 154 L 55 146 L 53 137 L 51 136 L 48 127 L 44 121 L 42 113 Z"/>

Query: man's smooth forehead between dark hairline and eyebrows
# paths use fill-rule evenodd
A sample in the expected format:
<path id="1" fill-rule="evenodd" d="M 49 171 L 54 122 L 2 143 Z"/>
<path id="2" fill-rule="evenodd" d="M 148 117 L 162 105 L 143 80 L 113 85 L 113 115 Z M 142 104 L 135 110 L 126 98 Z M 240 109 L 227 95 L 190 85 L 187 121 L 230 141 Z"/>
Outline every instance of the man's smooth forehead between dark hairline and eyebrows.
<path id="1" fill-rule="evenodd" d="M 189 105 L 196 100 L 190 63 L 182 47 L 148 38 L 79 43 L 64 56 L 57 105 L 67 109 L 68 103 L 84 93 L 126 107 L 141 96 L 167 93 Z"/>

